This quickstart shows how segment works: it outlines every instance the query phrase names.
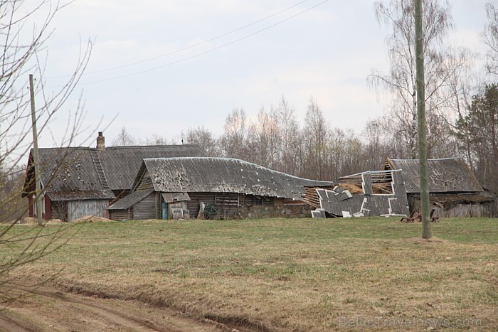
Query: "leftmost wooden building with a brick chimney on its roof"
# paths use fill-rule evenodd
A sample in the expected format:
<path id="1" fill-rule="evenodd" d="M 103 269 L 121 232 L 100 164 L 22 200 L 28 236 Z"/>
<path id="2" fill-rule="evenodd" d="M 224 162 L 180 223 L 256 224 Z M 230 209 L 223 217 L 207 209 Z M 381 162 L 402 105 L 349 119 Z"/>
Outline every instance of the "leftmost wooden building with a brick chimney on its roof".
<path id="1" fill-rule="evenodd" d="M 42 148 L 38 154 L 43 218 L 72 221 L 85 215 L 107 217 L 110 203 L 128 195 L 142 159 L 199 156 L 201 150 L 191 145 L 106 147 L 99 132 L 95 148 Z M 31 150 L 23 193 L 31 217 L 38 214 L 34 178 Z"/>

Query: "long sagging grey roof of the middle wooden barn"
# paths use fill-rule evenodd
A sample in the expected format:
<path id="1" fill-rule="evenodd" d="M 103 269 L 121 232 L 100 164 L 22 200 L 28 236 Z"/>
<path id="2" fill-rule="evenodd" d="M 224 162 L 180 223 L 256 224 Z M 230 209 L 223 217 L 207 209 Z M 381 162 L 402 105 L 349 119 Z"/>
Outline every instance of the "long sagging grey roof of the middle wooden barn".
<path id="1" fill-rule="evenodd" d="M 332 186 L 332 182 L 297 178 L 289 174 L 228 158 L 144 159 L 133 188 L 144 173 L 162 193 L 245 193 L 301 200 L 304 186 Z"/>

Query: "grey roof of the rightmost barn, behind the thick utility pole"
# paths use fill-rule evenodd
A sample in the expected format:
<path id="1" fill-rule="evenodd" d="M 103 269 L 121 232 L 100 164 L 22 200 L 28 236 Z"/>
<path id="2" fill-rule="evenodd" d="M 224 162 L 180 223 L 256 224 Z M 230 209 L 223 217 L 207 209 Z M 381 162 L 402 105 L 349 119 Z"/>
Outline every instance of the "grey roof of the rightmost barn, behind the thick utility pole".
<path id="1" fill-rule="evenodd" d="M 401 169 L 407 193 L 420 193 L 418 159 L 386 158 L 383 169 Z M 462 158 L 428 159 L 430 193 L 475 193 L 482 187 Z"/>

